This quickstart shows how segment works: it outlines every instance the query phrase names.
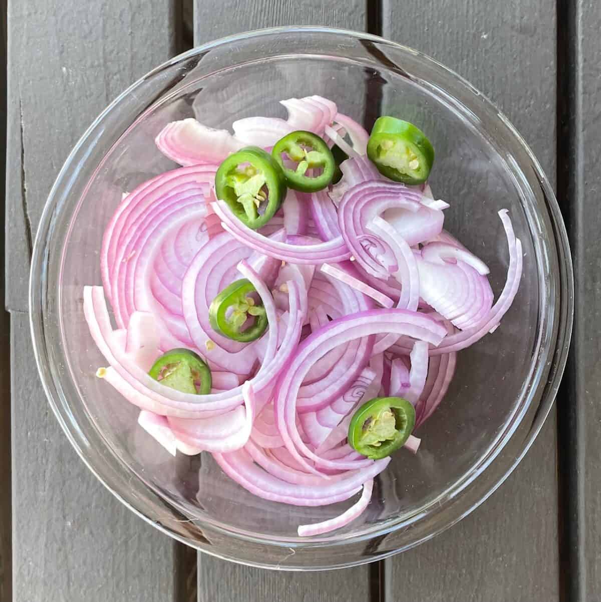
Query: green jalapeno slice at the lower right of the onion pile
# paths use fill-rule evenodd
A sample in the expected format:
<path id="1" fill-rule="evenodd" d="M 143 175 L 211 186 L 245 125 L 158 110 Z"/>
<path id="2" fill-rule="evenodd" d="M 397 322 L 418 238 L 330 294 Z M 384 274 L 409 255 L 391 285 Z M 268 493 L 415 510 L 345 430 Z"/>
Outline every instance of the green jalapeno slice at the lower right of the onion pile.
<path id="1" fill-rule="evenodd" d="M 375 397 L 353 415 L 351 447 L 372 460 L 386 458 L 405 444 L 415 426 L 415 409 L 402 397 Z"/>

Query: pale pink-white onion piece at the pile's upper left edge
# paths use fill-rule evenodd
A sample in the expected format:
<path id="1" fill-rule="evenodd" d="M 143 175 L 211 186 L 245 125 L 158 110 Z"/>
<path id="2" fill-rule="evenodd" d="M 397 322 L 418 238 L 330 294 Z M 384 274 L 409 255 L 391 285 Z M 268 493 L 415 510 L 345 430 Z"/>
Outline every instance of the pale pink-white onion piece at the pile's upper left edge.
<path id="1" fill-rule="evenodd" d="M 168 123 L 155 144 L 165 157 L 183 166 L 220 163 L 244 146 L 226 129 L 208 128 L 193 118 Z"/>

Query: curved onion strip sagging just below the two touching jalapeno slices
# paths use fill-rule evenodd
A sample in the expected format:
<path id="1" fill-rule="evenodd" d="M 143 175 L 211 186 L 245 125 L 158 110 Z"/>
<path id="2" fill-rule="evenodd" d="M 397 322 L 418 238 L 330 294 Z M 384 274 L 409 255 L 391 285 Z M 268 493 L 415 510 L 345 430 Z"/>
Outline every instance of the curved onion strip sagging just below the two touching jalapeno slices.
<path id="1" fill-rule="evenodd" d="M 265 238 L 258 232 L 248 228 L 237 219 L 226 203 L 217 201 L 212 203 L 215 213 L 221 218 L 223 227 L 234 238 L 248 244 L 251 249 L 265 253 L 276 259 L 297 264 L 319 264 L 324 261 L 339 262 L 350 257 L 350 251 L 342 237 L 334 238 L 326 243 L 306 246 L 303 244 L 282 243 L 273 238 Z"/>

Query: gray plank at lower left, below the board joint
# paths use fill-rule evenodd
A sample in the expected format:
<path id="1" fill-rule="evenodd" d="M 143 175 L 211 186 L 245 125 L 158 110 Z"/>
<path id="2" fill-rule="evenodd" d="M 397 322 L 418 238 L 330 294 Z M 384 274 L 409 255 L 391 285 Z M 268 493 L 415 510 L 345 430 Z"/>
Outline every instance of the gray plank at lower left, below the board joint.
<path id="1" fill-rule="evenodd" d="M 13 602 L 171 602 L 174 542 L 76 456 L 32 378 L 28 315 L 11 314 Z"/>

